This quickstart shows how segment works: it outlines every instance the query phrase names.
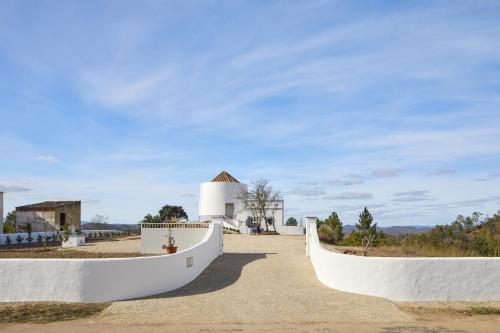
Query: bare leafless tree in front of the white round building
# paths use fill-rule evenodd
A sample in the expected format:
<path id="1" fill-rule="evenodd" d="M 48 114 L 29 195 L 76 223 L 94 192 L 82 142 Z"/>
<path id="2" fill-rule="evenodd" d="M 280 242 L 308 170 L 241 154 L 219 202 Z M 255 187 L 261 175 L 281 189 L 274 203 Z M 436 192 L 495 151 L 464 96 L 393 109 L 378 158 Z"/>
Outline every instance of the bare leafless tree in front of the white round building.
<path id="1" fill-rule="evenodd" d="M 274 219 L 275 209 L 273 208 L 274 205 L 281 201 L 281 193 L 273 191 L 267 180 L 258 179 L 252 182 L 252 189 L 240 194 L 239 199 L 245 209 L 252 213 L 257 223 L 262 223 L 262 220 L 264 220 L 266 231 L 269 231 L 269 223 L 267 221 L 268 211 L 272 210 Z M 276 232 L 274 223 L 273 228 Z"/>

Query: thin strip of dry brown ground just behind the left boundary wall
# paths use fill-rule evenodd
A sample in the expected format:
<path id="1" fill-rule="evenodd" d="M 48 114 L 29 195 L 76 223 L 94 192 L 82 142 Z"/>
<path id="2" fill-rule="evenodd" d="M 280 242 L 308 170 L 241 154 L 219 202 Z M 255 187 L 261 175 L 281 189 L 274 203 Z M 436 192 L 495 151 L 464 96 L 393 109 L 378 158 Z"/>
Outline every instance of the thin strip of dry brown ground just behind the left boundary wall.
<path id="1" fill-rule="evenodd" d="M 91 252 L 63 249 L 59 246 L 47 246 L 44 250 L 42 246 L 9 245 L 0 247 L 0 258 L 128 258 L 147 256 L 138 252 Z"/>

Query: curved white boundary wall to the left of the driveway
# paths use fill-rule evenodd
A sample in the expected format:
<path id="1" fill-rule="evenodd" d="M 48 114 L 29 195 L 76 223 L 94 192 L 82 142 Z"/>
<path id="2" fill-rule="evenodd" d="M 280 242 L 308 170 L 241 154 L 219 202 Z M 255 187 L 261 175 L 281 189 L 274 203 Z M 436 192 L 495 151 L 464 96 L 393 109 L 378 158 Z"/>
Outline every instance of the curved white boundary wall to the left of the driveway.
<path id="1" fill-rule="evenodd" d="M 171 255 L 111 259 L 0 259 L 0 301 L 108 302 L 180 288 L 222 254 L 222 227 Z M 187 263 L 191 261 L 192 266 Z"/>

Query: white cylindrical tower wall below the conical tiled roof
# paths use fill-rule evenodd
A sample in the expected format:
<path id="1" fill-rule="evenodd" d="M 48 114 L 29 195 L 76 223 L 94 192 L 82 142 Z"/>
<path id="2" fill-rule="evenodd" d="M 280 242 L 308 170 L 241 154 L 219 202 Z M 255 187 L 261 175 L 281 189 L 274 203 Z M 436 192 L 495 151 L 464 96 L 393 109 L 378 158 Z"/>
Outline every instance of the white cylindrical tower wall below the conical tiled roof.
<path id="1" fill-rule="evenodd" d="M 248 187 L 242 183 L 205 182 L 200 185 L 200 216 L 220 216 L 226 213 L 226 203 L 234 203 L 234 214 L 243 213 L 238 196 Z"/>

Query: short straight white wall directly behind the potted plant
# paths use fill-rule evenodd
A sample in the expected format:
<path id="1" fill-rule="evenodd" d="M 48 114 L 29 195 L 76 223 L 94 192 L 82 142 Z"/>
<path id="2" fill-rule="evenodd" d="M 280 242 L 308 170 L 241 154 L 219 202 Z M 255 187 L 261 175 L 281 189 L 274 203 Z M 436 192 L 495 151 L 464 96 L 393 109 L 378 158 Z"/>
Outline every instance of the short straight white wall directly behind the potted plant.
<path id="1" fill-rule="evenodd" d="M 171 228 L 177 251 L 182 251 L 201 242 L 208 228 Z M 161 248 L 167 243 L 168 228 L 141 228 L 141 253 L 164 253 Z"/>

